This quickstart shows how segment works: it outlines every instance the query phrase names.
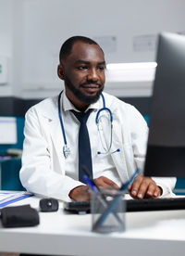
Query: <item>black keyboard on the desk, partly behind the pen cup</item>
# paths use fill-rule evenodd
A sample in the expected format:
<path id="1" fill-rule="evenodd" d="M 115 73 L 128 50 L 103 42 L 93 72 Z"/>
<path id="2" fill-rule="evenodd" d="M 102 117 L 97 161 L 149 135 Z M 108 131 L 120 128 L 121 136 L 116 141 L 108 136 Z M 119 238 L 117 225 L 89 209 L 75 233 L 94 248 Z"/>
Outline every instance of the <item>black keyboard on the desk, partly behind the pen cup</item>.
<path id="1" fill-rule="evenodd" d="M 166 210 L 185 210 L 185 198 L 144 198 L 128 199 L 126 211 L 166 211 Z M 90 202 L 65 202 L 64 209 L 74 213 L 89 213 L 91 210 Z"/>

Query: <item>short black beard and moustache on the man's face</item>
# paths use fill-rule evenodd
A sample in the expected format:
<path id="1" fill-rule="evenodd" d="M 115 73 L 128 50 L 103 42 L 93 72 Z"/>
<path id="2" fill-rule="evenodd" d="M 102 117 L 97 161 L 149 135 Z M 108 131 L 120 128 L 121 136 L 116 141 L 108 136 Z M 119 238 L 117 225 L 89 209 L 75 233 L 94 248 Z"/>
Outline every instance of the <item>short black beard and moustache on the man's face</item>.
<path id="1" fill-rule="evenodd" d="M 91 83 L 92 83 L 92 82 L 91 82 Z M 83 85 L 91 84 L 91 83 L 90 83 L 90 82 L 89 82 L 89 83 L 81 83 L 81 84 L 80 84 L 80 87 L 82 87 Z M 101 83 L 95 83 L 95 84 L 97 84 L 99 87 L 102 86 L 102 88 L 96 93 L 95 96 L 86 96 L 86 95 L 84 95 L 84 94 L 80 91 L 80 89 L 76 88 L 76 87 L 73 85 L 73 83 L 70 82 L 68 76 L 65 76 L 65 84 L 66 84 L 66 86 L 68 87 L 68 89 L 72 92 L 72 94 L 73 94 L 74 96 L 76 96 L 76 98 L 78 98 L 81 102 L 83 102 L 83 103 L 85 103 L 85 104 L 88 104 L 88 105 L 95 103 L 95 102 L 99 99 L 100 95 L 102 94 L 102 92 L 103 92 L 103 90 L 104 90 L 104 86 L 102 86 L 103 84 L 101 84 Z M 93 82 L 93 84 L 94 84 L 94 82 Z"/>

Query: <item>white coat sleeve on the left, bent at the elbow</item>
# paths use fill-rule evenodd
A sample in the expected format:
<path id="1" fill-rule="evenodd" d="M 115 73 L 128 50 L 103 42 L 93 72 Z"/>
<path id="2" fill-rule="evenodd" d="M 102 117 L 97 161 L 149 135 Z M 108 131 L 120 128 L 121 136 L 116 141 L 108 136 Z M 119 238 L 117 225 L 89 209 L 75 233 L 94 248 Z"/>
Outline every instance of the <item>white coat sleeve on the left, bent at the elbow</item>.
<path id="1" fill-rule="evenodd" d="M 49 142 L 44 134 L 44 123 L 41 123 L 37 111 L 31 108 L 25 117 L 20 181 L 34 194 L 69 201 L 69 191 L 83 184 L 68 177 L 64 172 L 56 173 L 53 170 Z"/>

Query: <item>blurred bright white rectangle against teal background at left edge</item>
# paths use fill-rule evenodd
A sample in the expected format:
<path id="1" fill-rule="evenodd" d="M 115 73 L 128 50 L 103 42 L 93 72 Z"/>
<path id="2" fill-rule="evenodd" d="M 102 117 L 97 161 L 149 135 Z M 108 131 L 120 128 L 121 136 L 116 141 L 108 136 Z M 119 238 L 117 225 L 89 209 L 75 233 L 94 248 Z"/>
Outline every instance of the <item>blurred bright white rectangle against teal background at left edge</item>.
<path id="1" fill-rule="evenodd" d="M 0 144 L 17 144 L 17 123 L 14 117 L 0 117 Z"/>

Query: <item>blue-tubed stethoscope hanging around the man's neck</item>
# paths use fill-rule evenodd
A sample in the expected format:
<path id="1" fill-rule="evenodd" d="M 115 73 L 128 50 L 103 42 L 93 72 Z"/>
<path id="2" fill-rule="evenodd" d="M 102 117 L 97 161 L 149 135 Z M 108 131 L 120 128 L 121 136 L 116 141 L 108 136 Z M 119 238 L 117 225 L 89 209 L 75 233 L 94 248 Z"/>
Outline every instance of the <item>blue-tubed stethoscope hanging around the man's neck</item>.
<path id="1" fill-rule="evenodd" d="M 65 129 L 64 129 L 64 123 L 62 120 L 62 113 L 61 113 L 61 106 L 60 106 L 60 99 L 61 99 L 61 95 L 62 95 L 63 91 L 60 92 L 59 96 L 58 96 L 58 116 L 59 116 L 59 121 L 60 121 L 60 125 L 61 125 L 61 129 L 62 129 L 62 134 L 63 134 L 63 138 L 64 138 L 64 147 L 63 147 L 63 154 L 65 159 L 68 158 L 68 155 L 70 155 L 70 148 L 68 147 L 68 143 L 67 143 L 67 137 L 66 137 L 66 133 L 65 133 Z M 111 147 L 112 147 L 112 137 L 113 137 L 113 114 L 112 111 L 108 108 L 105 107 L 105 96 L 103 94 L 101 94 L 102 96 L 102 100 L 103 100 L 103 108 L 99 109 L 97 111 L 96 117 L 95 117 L 95 123 L 97 125 L 97 129 L 98 129 L 98 134 L 100 137 L 100 142 L 101 145 L 104 149 L 104 151 L 97 151 L 97 154 L 113 154 L 116 152 L 119 152 L 120 149 L 117 148 L 117 150 L 111 151 Z M 100 128 L 100 122 L 101 122 L 101 113 L 103 111 L 106 111 L 108 113 L 109 116 L 109 122 L 110 122 L 110 142 L 109 142 L 109 146 L 106 148 L 105 147 L 105 143 L 103 142 L 102 136 L 101 136 L 101 128 Z"/>

